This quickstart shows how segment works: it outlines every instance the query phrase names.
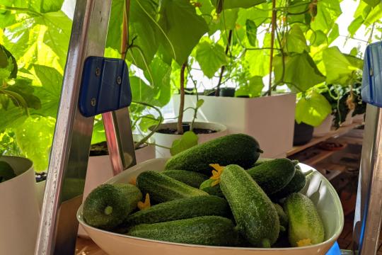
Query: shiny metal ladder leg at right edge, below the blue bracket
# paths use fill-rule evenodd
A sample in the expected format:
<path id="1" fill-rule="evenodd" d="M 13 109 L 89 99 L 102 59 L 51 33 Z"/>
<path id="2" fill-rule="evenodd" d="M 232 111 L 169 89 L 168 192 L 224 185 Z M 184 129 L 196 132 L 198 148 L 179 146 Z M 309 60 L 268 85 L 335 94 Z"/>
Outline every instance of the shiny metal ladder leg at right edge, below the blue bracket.
<path id="1" fill-rule="evenodd" d="M 367 105 L 357 204 L 354 215 L 354 251 L 378 251 L 382 215 L 382 111 Z"/>

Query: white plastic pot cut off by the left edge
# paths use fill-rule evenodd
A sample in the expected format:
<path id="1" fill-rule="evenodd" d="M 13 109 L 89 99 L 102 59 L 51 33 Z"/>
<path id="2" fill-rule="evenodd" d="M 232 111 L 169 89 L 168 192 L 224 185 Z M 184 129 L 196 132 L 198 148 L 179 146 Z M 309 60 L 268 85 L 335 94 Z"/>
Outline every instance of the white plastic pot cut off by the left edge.
<path id="1" fill-rule="evenodd" d="M 33 254 L 40 223 L 35 170 L 29 159 L 1 156 L 17 175 L 0 183 L 0 254 Z"/>

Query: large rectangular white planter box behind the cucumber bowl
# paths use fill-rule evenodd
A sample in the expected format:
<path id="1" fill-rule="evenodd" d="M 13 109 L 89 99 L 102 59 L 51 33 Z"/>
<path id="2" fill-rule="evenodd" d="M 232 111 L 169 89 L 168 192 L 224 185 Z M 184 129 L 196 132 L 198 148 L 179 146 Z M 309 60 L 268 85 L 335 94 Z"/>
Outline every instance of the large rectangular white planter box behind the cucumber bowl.
<path id="1" fill-rule="evenodd" d="M 179 95 L 173 97 L 178 115 Z M 279 94 L 259 98 L 199 96 L 204 103 L 197 120 L 226 125 L 229 133 L 244 133 L 255 137 L 264 153 L 261 157 L 284 157 L 293 146 L 295 94 Z M 195 107 L 196 96 L 187 95 L 185 108 Z M 193 112 L 185 111 L 185 120 Z"/>

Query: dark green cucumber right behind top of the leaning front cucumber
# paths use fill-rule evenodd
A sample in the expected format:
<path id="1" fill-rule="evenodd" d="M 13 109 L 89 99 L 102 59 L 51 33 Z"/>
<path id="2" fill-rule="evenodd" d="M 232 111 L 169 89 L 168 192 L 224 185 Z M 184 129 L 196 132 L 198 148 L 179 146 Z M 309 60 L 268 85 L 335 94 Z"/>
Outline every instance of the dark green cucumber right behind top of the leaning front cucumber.
<path id="1" fill-rule="evenodd" d="M 290 159 L 273 159 L 248 169 L 248 174 L 262 190 L 272 195 L 289 183 L 295 173 L 294 163 Z"/>

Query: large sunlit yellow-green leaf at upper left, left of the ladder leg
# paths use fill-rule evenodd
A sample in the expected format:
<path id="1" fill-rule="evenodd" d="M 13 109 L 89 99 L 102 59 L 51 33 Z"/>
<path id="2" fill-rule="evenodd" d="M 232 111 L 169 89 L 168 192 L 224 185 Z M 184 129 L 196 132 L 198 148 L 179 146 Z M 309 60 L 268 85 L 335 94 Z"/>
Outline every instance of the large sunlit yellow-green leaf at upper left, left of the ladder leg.
<path id="1" fill-rule="evenodd" d="M 28 16 L 4 31 L 3 44 L 30 69 L 33 64 L 54 67 L 63 72 L 71 33 L 71 20 L 62 12 Z M 14 43 L 17 41 L 17 43 Z"/>

